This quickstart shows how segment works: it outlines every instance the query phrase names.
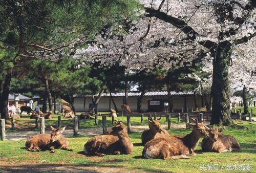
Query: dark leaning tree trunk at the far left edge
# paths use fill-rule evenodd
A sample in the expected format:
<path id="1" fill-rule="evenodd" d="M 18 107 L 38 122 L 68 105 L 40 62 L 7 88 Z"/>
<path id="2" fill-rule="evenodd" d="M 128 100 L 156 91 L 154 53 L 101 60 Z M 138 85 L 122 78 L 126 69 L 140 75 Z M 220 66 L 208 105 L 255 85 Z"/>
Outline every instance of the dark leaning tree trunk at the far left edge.
<path id="1" fill-rule="evenodd" d="M 9 117 L 8 114 L 8 97 L 9 97 L 9 90 L 10 90 L 10 84 L 12 79 L 12 68 L 10 68 L 5 76 L 5 83 L 3 85 L 3 92 L 1 95 L 0 100 L 0 113 L 1 118 L 7 119 Z"/>

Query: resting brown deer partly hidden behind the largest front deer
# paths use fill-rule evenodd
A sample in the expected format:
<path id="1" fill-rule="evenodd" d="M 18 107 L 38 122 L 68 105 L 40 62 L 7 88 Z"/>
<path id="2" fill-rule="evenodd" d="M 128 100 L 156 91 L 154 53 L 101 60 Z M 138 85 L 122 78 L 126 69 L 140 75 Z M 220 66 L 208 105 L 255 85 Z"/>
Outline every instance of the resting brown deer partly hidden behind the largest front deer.
<path id="1" fill-rule="evenodd" d="M 158 118 L 156 121 L 153 119 L 148 119 L 148 124 L 150 125 L 149 129 L 145 129 L 142 132 L 141 135 L 141 143 L 145 145 L 148 141 L 155 139 L 155 138 L 165 138 L 167 136 L 170 136 L 167 131 L 165 131 L 164 128 L 162 128 L 160 124 L 160 118 Z"/>

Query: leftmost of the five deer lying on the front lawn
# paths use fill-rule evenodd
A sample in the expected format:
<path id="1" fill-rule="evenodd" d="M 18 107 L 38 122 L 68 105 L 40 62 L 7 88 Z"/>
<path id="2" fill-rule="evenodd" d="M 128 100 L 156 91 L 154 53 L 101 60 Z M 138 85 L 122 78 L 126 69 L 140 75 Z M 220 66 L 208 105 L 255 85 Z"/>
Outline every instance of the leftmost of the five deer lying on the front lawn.
<path id="1" fill-rule="evenodd" d="M 55 153 L 55 148 L 67 151 L 73 151 L 68 148 L 68 141 L 62 135 L 65 127 L 55 129 L 51 126 L 51 134 L 34 135 L 26 141 L 26 149 L 30 152 L 39 152 L 40 150 L 51 150 Z"/>

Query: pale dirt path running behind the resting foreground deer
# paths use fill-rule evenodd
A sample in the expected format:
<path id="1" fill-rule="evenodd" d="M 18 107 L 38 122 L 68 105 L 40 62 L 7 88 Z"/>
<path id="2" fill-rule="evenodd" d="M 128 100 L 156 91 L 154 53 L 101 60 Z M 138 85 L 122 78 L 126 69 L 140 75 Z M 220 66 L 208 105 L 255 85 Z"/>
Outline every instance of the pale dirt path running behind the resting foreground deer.
<path id="1" fill-rule="evenodd" d="M 167 128 L 167 125 L 163 125 L 164 128 Z M 133 132 L 142 132 L 145 128 L 148 128 L 147 125 L 132 125 Z M 179 124 L 172 124 L 172 128 L 185 128 L 184 123 Z M 49 129 L 46 129 L 46 133 L 50 133 Z M 78 130 L 79 135 L 83 136 L 95 136 L 102 134 L 102 127 L 99 128 L 81 128 Z M 20 131 L 20 132 L 7 132 L 6 133 L 6 140 L 11 141 L 20 141 L 26 140 L 30 136 L 39 135 L 39 131 Z M 63 133 L 65 137 L 72 137 L 73 136 L 73 129 L 68 128 Z"/>

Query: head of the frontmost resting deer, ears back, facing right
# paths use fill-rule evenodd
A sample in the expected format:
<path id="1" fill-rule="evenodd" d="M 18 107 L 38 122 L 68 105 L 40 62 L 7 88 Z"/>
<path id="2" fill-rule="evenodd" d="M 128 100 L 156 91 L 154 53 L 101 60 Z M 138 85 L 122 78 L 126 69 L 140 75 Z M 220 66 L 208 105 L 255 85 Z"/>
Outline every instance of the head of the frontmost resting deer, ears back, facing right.
<path id="1" fill-rule="evenodd" d="M 192 119 L 195 121 L 196 125 L 186 123 L 187 127 L 193 129 L 192 132 L 195 133 L 198 137 L 208 138 L 209 134 L 207 131 L 209 130 L 209 127 L 205 126 L 203 121 L 199 123 L 197 119 Z"/>

